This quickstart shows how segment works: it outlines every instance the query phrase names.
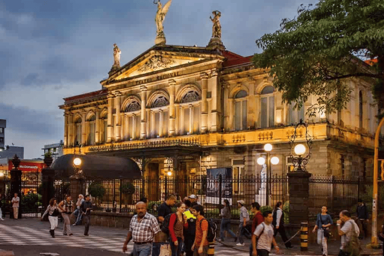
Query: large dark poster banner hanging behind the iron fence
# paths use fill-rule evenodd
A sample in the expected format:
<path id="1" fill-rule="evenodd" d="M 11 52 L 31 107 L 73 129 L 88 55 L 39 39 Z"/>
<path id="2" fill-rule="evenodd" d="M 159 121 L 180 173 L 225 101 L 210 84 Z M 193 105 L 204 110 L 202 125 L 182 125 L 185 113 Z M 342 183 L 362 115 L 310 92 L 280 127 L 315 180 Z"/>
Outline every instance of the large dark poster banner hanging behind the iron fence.
<path id="1" fill-rule="evenodd" d="M 232 167 L 206 169 L 206 197 L 207 203 L 219 203 L 219 179 L 221 174 L 221 203 L 224 199 L 228 199 L 232 204 Z"/>

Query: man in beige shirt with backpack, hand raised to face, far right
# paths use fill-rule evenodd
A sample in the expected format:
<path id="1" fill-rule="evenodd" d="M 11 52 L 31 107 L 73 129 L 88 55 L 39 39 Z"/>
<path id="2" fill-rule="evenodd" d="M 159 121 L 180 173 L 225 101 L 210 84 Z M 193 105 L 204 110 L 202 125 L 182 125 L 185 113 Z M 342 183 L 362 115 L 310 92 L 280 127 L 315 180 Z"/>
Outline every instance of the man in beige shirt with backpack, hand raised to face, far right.
<path id="1" fill-rule="evenodd" d="M 337 232 L 341 236 L 341 247 L 339 256 L 357 256 L 360 252 L 360 230 L 356 222 L 350 218 L 350 212 L 340 211 L 340 219 L 337 219 Z M 341 226 L 342 225 L 342 226 Z"/>

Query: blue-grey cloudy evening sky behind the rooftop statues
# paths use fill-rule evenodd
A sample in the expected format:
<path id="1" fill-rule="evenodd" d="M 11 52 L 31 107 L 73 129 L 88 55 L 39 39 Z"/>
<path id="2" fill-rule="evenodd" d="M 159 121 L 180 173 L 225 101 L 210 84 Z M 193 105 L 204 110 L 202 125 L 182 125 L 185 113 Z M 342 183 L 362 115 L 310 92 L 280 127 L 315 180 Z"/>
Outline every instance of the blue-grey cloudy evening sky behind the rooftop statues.
<path id="1" fill-rule="evenodd" d="M 164 21 L 167 44 L 205 46 L 212 10 L 221 11 L 226 49 L 247 56 L 254 43 L 315 0 L 172 0 Z M 165 0 L 162 0 L 165 3 Z M 121 49 L 121 65 L 153 46 L 152 0 L 0 0 L 0 119 L 5 144 L 39 157 L 63 139 L 63 97 L 101 88 Z"/>

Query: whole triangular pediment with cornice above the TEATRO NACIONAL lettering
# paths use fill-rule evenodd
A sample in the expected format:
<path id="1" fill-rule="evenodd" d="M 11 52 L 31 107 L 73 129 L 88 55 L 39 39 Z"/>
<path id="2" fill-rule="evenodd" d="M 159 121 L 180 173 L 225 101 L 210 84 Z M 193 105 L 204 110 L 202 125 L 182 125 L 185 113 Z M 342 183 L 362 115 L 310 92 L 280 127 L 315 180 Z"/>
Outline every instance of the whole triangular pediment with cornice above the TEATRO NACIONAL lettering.
<path id="1" fill-rule="evenodd" d="M 185 65 L 200 63 L 212 59 L 223 60 L 221 51 L 198 46 L 155 45 L 125 65 L 109 72 L 109 77 L 101 81 L 104 86 L 118 80 L 145 76 L 162 70 L 185 67 Z"/>

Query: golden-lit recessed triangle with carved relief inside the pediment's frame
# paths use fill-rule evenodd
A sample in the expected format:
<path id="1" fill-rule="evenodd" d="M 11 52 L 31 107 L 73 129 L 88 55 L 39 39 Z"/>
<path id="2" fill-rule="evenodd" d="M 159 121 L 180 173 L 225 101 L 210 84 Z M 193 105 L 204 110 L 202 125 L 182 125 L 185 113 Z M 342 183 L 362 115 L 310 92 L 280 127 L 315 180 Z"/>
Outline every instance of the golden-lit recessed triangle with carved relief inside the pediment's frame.
<path id="1" fill-rule="evenodd" d="M 144 59 L 142 59 L 140 62 L 136 63 L 135 65 L 130 66 L 127 68 L 123 73 L 118 75 L 115 80 L 120 80 L 136 75 L 142 75 L 145 73 L 150 73 L 153 71 L 158 71 L 161 69 L 174 67 L 182 64 L 191 63 L 194 61 L 202 60 L 204 58 L 199 57 L 185 57 L 185 56 L 172 56 L 172 55 L 166 55 L 166 54 L 153 54 L 150 55 Z"/>

